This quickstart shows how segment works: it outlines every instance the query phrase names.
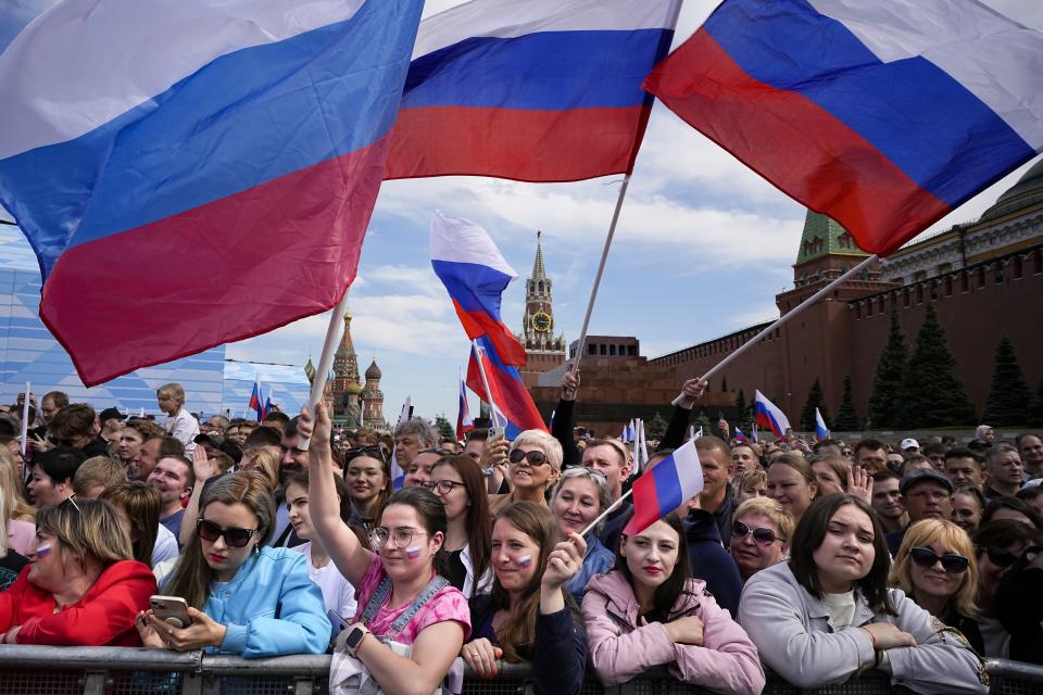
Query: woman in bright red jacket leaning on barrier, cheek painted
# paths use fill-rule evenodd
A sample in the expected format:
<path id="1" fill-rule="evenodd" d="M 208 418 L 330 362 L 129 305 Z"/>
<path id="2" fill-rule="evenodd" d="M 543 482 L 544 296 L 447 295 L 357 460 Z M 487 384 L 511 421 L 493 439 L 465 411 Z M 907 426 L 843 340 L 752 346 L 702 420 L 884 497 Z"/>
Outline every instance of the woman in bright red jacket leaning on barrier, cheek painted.
<path id="1" fill-rule="evenodd" d="M 32 564 L 0 593 L 0 642 L 140 646 L 134 626 L 155 578 L 131 560 L 108 502 L 68 498 L 36 515 Z"/>

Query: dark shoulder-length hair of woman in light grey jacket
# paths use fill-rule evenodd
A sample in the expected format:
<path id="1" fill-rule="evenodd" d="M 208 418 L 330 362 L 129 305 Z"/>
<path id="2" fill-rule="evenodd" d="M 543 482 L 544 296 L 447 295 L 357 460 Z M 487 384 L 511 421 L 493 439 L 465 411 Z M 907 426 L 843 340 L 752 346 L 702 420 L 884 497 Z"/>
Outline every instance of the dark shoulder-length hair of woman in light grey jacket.
<path id="1" fill-rule="evenodd" d="M 819 497 L 812 503 L 801 516 L 796 531 L 793 532 L 793 542 L 790 544 L 790 570 L 807 593 L 819 599 L 822 597 L 822 584 L 818 580 L 818 566 L 815 564 L 814 553 L 826 539 L 829 520 L 838 509 L 847 505 L 854 505 L 865 511 L 872 523 L 872 549 L 875 551 L 872 567 L 865 577 L 856 580 L 854 585 L 866 597 L 874 610 L 896 616 L 899 614 L 888 595 L 891 553 L 888 551 L 883 527 L 880 526 L 880 519 L 872 507 L 859 497 L 838 492 Z"/>

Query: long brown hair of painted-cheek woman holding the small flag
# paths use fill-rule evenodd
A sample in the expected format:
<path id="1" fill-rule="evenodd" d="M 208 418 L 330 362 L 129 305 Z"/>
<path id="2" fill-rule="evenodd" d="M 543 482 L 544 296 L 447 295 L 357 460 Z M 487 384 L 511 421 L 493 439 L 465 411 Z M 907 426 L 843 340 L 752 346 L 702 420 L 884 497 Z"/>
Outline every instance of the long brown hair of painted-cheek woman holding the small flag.
<path id="1" fill-rule="evenodd" d="M 500 578 L 494 578 L 492 582 L 492 602 L 489 610 L 495 614 L 497 610 L 504 609 L 510 614 L 507 619 L 497 628 L 497 641 L 503 649 L 503 659 L 524 661 L 531 658 L 532 645 L 536 642 L 536 611 L 540 606 L 540 582 L 546 569 L 546 556 L 562 540 L 562 533 L 557 529 L 551 510 L 535 502 L 515 502 L 507 505 L 492 520 L 493 527 L 501 519 L 528 535 L 540 546 L 540 556 L 535 560 L 536 572 L 514 610 L 511 610 L 511 596 L 500 585 Z M 569 598 L 566 598 L 566 603 L 568 601 Z"/>

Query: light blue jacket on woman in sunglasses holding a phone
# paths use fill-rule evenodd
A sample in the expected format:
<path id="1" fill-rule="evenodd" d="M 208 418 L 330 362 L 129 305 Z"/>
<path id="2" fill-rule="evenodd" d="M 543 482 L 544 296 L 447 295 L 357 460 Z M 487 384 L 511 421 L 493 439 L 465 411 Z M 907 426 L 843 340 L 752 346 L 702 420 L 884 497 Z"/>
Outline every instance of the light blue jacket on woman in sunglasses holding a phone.
<path id="1" fill-rule="evenodd" d="M 326 652 L 332 628 L 306 563 L 297 551 L 262 547 L 211 593 L 203 612 L 228 629 L 219 652 L 247 659 Z"/>

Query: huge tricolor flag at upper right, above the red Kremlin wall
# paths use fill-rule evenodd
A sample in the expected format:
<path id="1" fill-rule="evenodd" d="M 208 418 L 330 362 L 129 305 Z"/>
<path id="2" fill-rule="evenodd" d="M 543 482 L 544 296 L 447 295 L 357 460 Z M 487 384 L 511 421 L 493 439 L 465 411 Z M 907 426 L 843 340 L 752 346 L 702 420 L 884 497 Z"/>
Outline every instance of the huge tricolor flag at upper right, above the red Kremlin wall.
<path id="1" fill-rule="evenodd" d="M 645 87 L 881 255 L 1043 150 L 1043 34 L 973 0 L 725 0 Z"/>

